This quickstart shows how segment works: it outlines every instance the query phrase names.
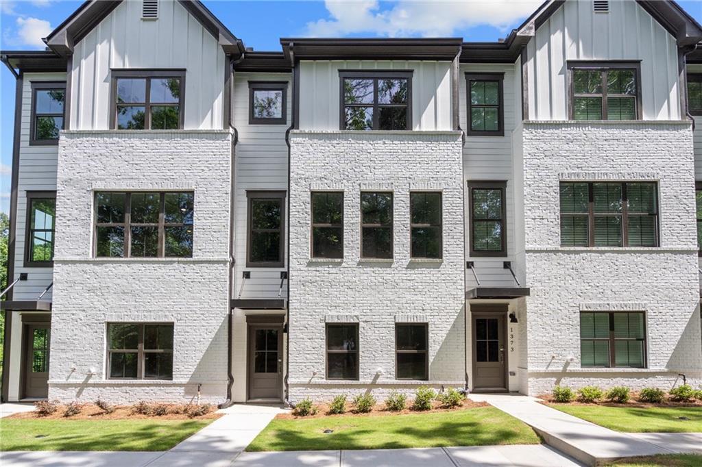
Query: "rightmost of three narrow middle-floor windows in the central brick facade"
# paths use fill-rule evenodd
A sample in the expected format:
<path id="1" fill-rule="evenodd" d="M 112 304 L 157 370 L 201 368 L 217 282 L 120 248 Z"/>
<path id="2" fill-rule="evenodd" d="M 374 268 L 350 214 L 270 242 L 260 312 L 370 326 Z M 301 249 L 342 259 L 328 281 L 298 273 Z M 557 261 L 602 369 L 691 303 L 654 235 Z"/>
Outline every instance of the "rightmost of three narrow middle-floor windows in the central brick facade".
<path id="1" fill-rule="evenodd" d="M 442 257 L 442 194 L 414 191 L 409 194 L 411 257 Z"/>

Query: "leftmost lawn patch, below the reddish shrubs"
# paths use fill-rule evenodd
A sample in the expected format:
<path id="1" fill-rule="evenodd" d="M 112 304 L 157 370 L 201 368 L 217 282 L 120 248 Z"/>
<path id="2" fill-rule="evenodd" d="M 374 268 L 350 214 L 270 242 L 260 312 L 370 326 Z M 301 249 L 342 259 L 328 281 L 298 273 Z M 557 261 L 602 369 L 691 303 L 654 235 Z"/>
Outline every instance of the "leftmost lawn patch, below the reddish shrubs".
<path id="1" fill-rule="evenodd" d="M 164 451 L 211 421 L 1 419 L 0 451 Z"/>

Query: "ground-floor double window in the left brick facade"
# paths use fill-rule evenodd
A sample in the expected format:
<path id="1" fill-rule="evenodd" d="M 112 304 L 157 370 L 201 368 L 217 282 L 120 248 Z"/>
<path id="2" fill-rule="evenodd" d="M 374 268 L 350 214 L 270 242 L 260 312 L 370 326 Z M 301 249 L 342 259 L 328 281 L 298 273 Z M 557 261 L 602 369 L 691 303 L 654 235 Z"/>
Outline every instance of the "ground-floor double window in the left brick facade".
<path id="1" fill-rule="evenodd" d="M 173 379 L 173 323 L 107 325 L 110 379 Z"/>

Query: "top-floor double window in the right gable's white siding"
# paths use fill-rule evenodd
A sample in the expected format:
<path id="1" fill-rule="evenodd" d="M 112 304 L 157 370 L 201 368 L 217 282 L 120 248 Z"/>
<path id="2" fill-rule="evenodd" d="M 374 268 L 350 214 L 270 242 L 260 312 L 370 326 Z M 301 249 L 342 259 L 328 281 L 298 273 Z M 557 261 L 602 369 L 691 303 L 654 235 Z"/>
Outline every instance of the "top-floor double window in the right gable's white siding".
<path id="1" fill-rule="evenodd" d="M 641 118 L 638 62 L 569 62 L 571 120 Z"/>

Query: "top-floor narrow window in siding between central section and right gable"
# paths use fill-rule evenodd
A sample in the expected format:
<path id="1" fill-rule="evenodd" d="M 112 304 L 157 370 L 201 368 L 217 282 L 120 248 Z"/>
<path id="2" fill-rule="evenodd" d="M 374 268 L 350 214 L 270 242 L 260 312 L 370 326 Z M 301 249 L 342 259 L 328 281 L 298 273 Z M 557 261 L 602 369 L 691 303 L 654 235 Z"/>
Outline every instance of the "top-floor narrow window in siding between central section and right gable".
<path id="1" fill-rule="evenodd" d="M 475 136 L 502 136 L 504 129 L 504 74 L 466 73 L 468 131 Z"/>

